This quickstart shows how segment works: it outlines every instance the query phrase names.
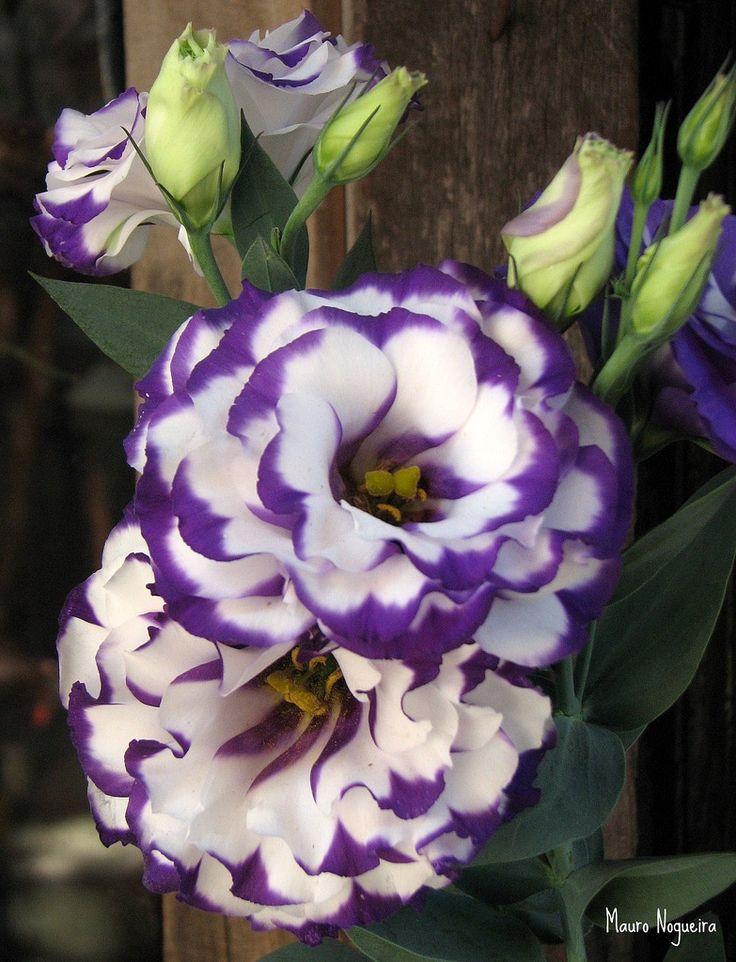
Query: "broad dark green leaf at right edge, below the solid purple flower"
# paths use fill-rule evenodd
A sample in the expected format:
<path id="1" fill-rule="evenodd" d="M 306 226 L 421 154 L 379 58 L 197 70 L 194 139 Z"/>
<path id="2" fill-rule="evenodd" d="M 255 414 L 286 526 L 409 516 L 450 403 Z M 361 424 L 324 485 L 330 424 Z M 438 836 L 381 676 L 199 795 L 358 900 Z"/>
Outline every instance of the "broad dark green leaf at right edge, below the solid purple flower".
<path id="1" fill-rule="evenodd" d="M 596 629 L 586 718 L 628 732 L 679 698 L 710 639 L 735 550 L 736 468 L 728 468 L 626 552 Z"/>

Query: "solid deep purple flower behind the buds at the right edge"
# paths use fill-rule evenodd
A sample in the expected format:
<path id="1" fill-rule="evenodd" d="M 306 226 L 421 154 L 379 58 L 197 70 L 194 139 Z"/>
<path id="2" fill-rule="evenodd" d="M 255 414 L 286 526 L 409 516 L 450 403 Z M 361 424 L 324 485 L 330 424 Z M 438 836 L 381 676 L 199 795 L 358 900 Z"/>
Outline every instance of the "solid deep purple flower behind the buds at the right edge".
<path id="1" fill-rule="evenodd" d="M 672 201 L 652 205 L 644 246 L 652 243 L 672 207 Z M 619 270 L 626 262 L 632 211 L 627 191 L 617 222 Z M 723 221 L 713 268 L 697 309 L 652 356 L 644 376 L 652 392 L 654 426 L 676 435 L 707 438 L 722 457 L 736 461 L 736 217 L 730 215 Z"/>

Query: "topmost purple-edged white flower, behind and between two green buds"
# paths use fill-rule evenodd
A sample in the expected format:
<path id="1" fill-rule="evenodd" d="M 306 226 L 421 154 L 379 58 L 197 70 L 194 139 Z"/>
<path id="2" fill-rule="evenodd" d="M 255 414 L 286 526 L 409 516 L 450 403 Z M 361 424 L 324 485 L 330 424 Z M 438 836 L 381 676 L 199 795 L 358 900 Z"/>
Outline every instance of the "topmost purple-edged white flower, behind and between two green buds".
<path id="1" fill-rule="evenodd" d="M 263 37 L 256 30 L 228 46 L 226 68 L 236 103 L 301 196 L 313 173 L 308 155 L 322 128 L 346 97 L 354 100 L 369 82 L 385 76 L 386 65 L 370 44 L 331 36 L 308 10 Z"/>

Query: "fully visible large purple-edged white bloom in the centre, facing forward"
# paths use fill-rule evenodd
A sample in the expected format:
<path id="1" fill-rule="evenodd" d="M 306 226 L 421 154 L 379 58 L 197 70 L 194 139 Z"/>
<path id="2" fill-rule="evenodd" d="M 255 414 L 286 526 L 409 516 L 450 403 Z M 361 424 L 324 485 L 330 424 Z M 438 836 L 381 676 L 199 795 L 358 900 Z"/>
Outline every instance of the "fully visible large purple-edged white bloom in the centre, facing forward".
<path id="1" fill-rule="evenodd" d="M 455 276 L 451 276 L 455 275 Z M 129 440 L 158 590 L 234 647 L 578 650 L 619 570 L 628 441 L 517 292 L 445 265 L 246 285 L 186 322 Z"/>

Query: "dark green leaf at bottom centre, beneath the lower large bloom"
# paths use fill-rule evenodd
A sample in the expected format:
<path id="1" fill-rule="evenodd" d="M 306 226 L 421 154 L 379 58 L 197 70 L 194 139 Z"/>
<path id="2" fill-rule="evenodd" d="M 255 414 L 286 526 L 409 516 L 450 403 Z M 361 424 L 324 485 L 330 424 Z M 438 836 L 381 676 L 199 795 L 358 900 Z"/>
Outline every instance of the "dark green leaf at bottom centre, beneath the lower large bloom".
<path id="1" fill-rule="evenodd" d="M 518 919 L 464 896 L 433 892 L 424 910 L 348 930 L 373 962 L 543 962 L 542 946 Z M 492 955 L 489 953 L 492 952 Z"/>

